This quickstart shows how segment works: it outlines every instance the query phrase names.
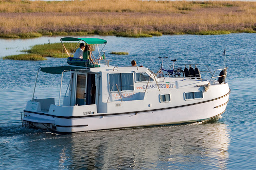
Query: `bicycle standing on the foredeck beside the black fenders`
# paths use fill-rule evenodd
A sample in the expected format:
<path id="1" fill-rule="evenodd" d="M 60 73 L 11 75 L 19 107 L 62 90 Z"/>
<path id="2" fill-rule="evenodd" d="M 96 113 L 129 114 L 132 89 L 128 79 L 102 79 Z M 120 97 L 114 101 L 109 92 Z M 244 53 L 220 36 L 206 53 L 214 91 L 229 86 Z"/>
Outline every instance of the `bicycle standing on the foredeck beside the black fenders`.
<path id="1" fill-rule="evenodd" d="M 181 67 L 178 67 L 176 69 L 174 68 L 174 63 L 177 60 L 175 60 L 175 59 L 171 60 L 171 61 L 173 61 L 173 65 L 170 66 L 169 70 L 166 70 L 166 69 L 162 68 L 162 62 L 163 62 L 163 58 L 168 58 L 168 57 L 158 57 L 158 58 L 161 58 L 161 66 L 160 66 L 159 70 L 156 72 L 157 77 L 164 76 L 162 71 L 167 72 L 167 74 L 165 74 L 165 76 L 168 76 L 168 77 L 184 77 L 184 72 L 181 69 Z M 172 67 L 172 69 L 171 69 L 171 67 Z"/>

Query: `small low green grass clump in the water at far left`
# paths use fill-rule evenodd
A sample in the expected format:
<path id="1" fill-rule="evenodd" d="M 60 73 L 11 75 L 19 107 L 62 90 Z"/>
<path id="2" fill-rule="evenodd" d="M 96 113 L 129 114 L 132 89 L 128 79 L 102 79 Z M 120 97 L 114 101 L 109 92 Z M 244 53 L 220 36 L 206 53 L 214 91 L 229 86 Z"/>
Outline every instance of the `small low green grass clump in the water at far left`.
<path id="1" fill-rule="evenodd" d="M 42 57 L 38 54 L 18 54 L 18 55 L 9 55 L 2 58 L 3 60 L 30 60 L 30 61 L 38 61 L 38 60 L 46 60 L 46 58 Z"/>

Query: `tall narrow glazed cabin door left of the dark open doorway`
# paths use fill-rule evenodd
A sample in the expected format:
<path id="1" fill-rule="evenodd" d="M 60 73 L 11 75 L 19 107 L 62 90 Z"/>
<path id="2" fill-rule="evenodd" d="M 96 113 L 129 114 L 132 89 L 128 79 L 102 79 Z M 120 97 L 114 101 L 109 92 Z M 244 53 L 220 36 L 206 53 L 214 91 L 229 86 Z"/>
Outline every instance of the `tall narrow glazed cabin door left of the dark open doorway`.
<path id="1" fill-rule="evenodd" d="M 76 95 L 75 95 L 75 105 L 81 106 L 86 103 L 86 83 L 87 74 L 77 73 L 76 76 Z"/>

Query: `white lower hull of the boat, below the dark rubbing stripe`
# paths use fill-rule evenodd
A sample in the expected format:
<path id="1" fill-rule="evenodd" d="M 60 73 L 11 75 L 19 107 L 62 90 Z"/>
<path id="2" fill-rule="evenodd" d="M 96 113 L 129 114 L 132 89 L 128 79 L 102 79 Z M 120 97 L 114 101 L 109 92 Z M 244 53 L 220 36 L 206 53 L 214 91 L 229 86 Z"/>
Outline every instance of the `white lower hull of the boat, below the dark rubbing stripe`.
<path id="1" fill-rule="evenodd" d="M 229 93 L 230 90 L 227 94 L 215 99 L 170 108 L 114 114 L 98 113 L 77 118 L 24 111 L 26 116 L 23 121 L 34 128 L 60 133 L 193 123 L 224 113 Z"/>

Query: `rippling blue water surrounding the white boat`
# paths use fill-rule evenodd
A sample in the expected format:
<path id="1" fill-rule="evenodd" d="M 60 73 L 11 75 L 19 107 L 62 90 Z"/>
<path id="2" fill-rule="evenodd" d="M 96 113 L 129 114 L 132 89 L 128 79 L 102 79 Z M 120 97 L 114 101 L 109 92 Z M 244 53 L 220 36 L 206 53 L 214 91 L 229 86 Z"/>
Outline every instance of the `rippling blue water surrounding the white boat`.
<path id="1" fill-rule="evenodd" d="M 222 52 L 226 48 L 231 89 L 226 112 L 210 122 L 180 126 L 69 135 L 25 129 L 19 112 L 32 98 L 37 68 L 62 65 L 66 59 L 0 59 L 0 169 L 256 169 L 256 34 L 93 37 L 107 40 L 104 50 L 112 65 L 128 66 L 134 59 L 137 65 L 153 71 L 158 68 L 159 56 L 169 57 L 164 62 L 166 67 L 170 59 L 177 59 L 175 65 L 207 64 L 213 71 L 224 66 Z M 48 43 L 48 39 L 53 43 L 60 37 L 0 39 L 0 57 Z M 111 55 L 111 51 L 126 51 L 129 55 Z M 41 88 L 36 89 L 36 96 L 54 95 L 56 101 L 60 77 L 39 76 Z"/>

